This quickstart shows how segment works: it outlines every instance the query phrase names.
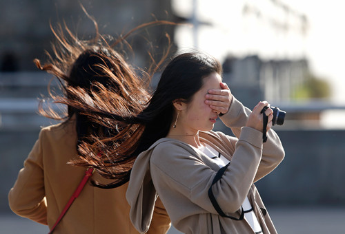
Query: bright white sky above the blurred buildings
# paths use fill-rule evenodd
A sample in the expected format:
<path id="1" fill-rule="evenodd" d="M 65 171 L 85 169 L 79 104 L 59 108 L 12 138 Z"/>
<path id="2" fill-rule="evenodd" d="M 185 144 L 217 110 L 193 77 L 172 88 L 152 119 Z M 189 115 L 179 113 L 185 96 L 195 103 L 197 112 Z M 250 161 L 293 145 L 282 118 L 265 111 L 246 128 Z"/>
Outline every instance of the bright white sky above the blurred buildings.
<path id="1" fill-rule="evenodd" d="M 311 70 L 332 87 L 332 103 L 345 105 L 345 22 L 343 1 L 312 0 L 175 0 L 173 7 L 184 17 L 197 2 L 199 21 L 212 23 L 198 30 L 197 48 L 220 60 L 227 54 L 259 54 L 262 58 L 306 57 Z M 306 34 L 298 17 L 286 16 L 273 2 L 284 3 L 308 19 Z M 243 14 L 244 6 L 248 6 Z M 296 14 L 295 14 L 296 15 Z M 280 27 L 288 22 L 290 27 Z M 279 28 L 280 27 L 280 28 Z M 193 48 L 193 29 L 186 26 L 176 32 L 175 40 L 183 49 Z"/>

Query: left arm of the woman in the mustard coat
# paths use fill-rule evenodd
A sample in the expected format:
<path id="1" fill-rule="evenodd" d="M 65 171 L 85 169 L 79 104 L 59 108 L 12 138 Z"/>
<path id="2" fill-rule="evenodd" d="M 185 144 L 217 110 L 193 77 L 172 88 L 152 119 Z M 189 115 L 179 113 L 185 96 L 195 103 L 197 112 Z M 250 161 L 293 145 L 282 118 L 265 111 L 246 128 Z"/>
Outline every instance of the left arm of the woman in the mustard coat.
<path id="1" fill-rule="evenodd" d="M 19 171 L 17 181 L 8 193 L 10 209 L 17 215 L 47 225 L 41 134 Z"/>

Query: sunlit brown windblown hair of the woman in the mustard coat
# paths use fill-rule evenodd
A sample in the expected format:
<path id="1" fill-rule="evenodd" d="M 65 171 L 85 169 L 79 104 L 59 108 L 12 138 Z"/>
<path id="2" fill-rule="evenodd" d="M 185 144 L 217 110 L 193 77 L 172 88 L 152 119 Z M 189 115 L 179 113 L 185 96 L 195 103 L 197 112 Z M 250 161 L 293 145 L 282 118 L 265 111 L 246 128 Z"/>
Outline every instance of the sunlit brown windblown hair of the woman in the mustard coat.
<path id="1" fill-rule="evenodd" d="M 131 138 L 140 136 L 143 131 L 137 124 L 127 125 L 126 121 L 119 120 L 137 116 L 146 107 L 151 74 L 166 58 L 170 39 L 166 35 L 168 50 L 157 63 L 148 52 L 152 66 L 146 72 L 131 67 L 115 47 L 123 50 L 126 45 L 130 49 L 126 38 L 136 30 L 172 23 L 145 23 L 110 43 L 109 36 L 99 34 L 95 19 L 90 15 L 88 17 L 95 24 L 96 33 L 93 39 L 87 41 L 77 38 L 66 24 L 64 27 L 58 25 L 57 29 L 50 25 L 57 39 L 57 43 L 52 45 L 53 53 L 48 54 L 47 63 L 42 65 L 38 59 L 34 63 L 40 70 L 57 78 L 62 95 L 50 92 L 50 97 L 55 103 L 67 105 L 68 108 L 65 114 L 57 113 L 49 105 L 43 106 L 42 101 L 39 113 L 48 118 L 65 120 L 65 123 L 75 118 L 79 158 L 72 159 L 69 163 L 95 167 L 104 177 L 115 179 L 114 184 L 119 186 L 128 181 L 135 158 L 123 156 L 122 150 L 117 150 L 117 147 L 128 147 L 126 153 L 132 155 L 137 142 Z M 113 118 L 113 115 L 121 118 Z M 114 163 L 117 163 L 117 167 L 114 167 Z M 93 183 L 102 187 L 102 184 L 95 181 Z"/>

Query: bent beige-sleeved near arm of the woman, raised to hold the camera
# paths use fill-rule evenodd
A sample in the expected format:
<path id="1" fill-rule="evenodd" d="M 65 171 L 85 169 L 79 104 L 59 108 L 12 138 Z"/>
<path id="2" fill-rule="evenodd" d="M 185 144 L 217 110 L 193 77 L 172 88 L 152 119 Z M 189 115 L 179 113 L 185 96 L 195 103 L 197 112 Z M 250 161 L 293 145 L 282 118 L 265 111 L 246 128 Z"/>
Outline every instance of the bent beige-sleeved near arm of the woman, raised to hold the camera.
<path id="1" fill-rule="evenodd" d="M 226 213 L 235 213 L 241 207 L 253 184 L 262 155 L 258 135 L 249 127 L 242 131 L 230 167 L 213 185 L 217 202 Z M 211 169 L 204 160 L 210 159 L 201 160 L 193 149 L 179 142 L 160 144 L 153 151 L 150 160 L 152 180 L 172 216 L 179 212 L 174 208 L 176 204 L 171 204 L 174 200 L 190 200 L 206 212 L 217 214 L 208 198 L 208 189 L 218 166 Z M 179 196 L 184 198 L 179 199 Z"/>

